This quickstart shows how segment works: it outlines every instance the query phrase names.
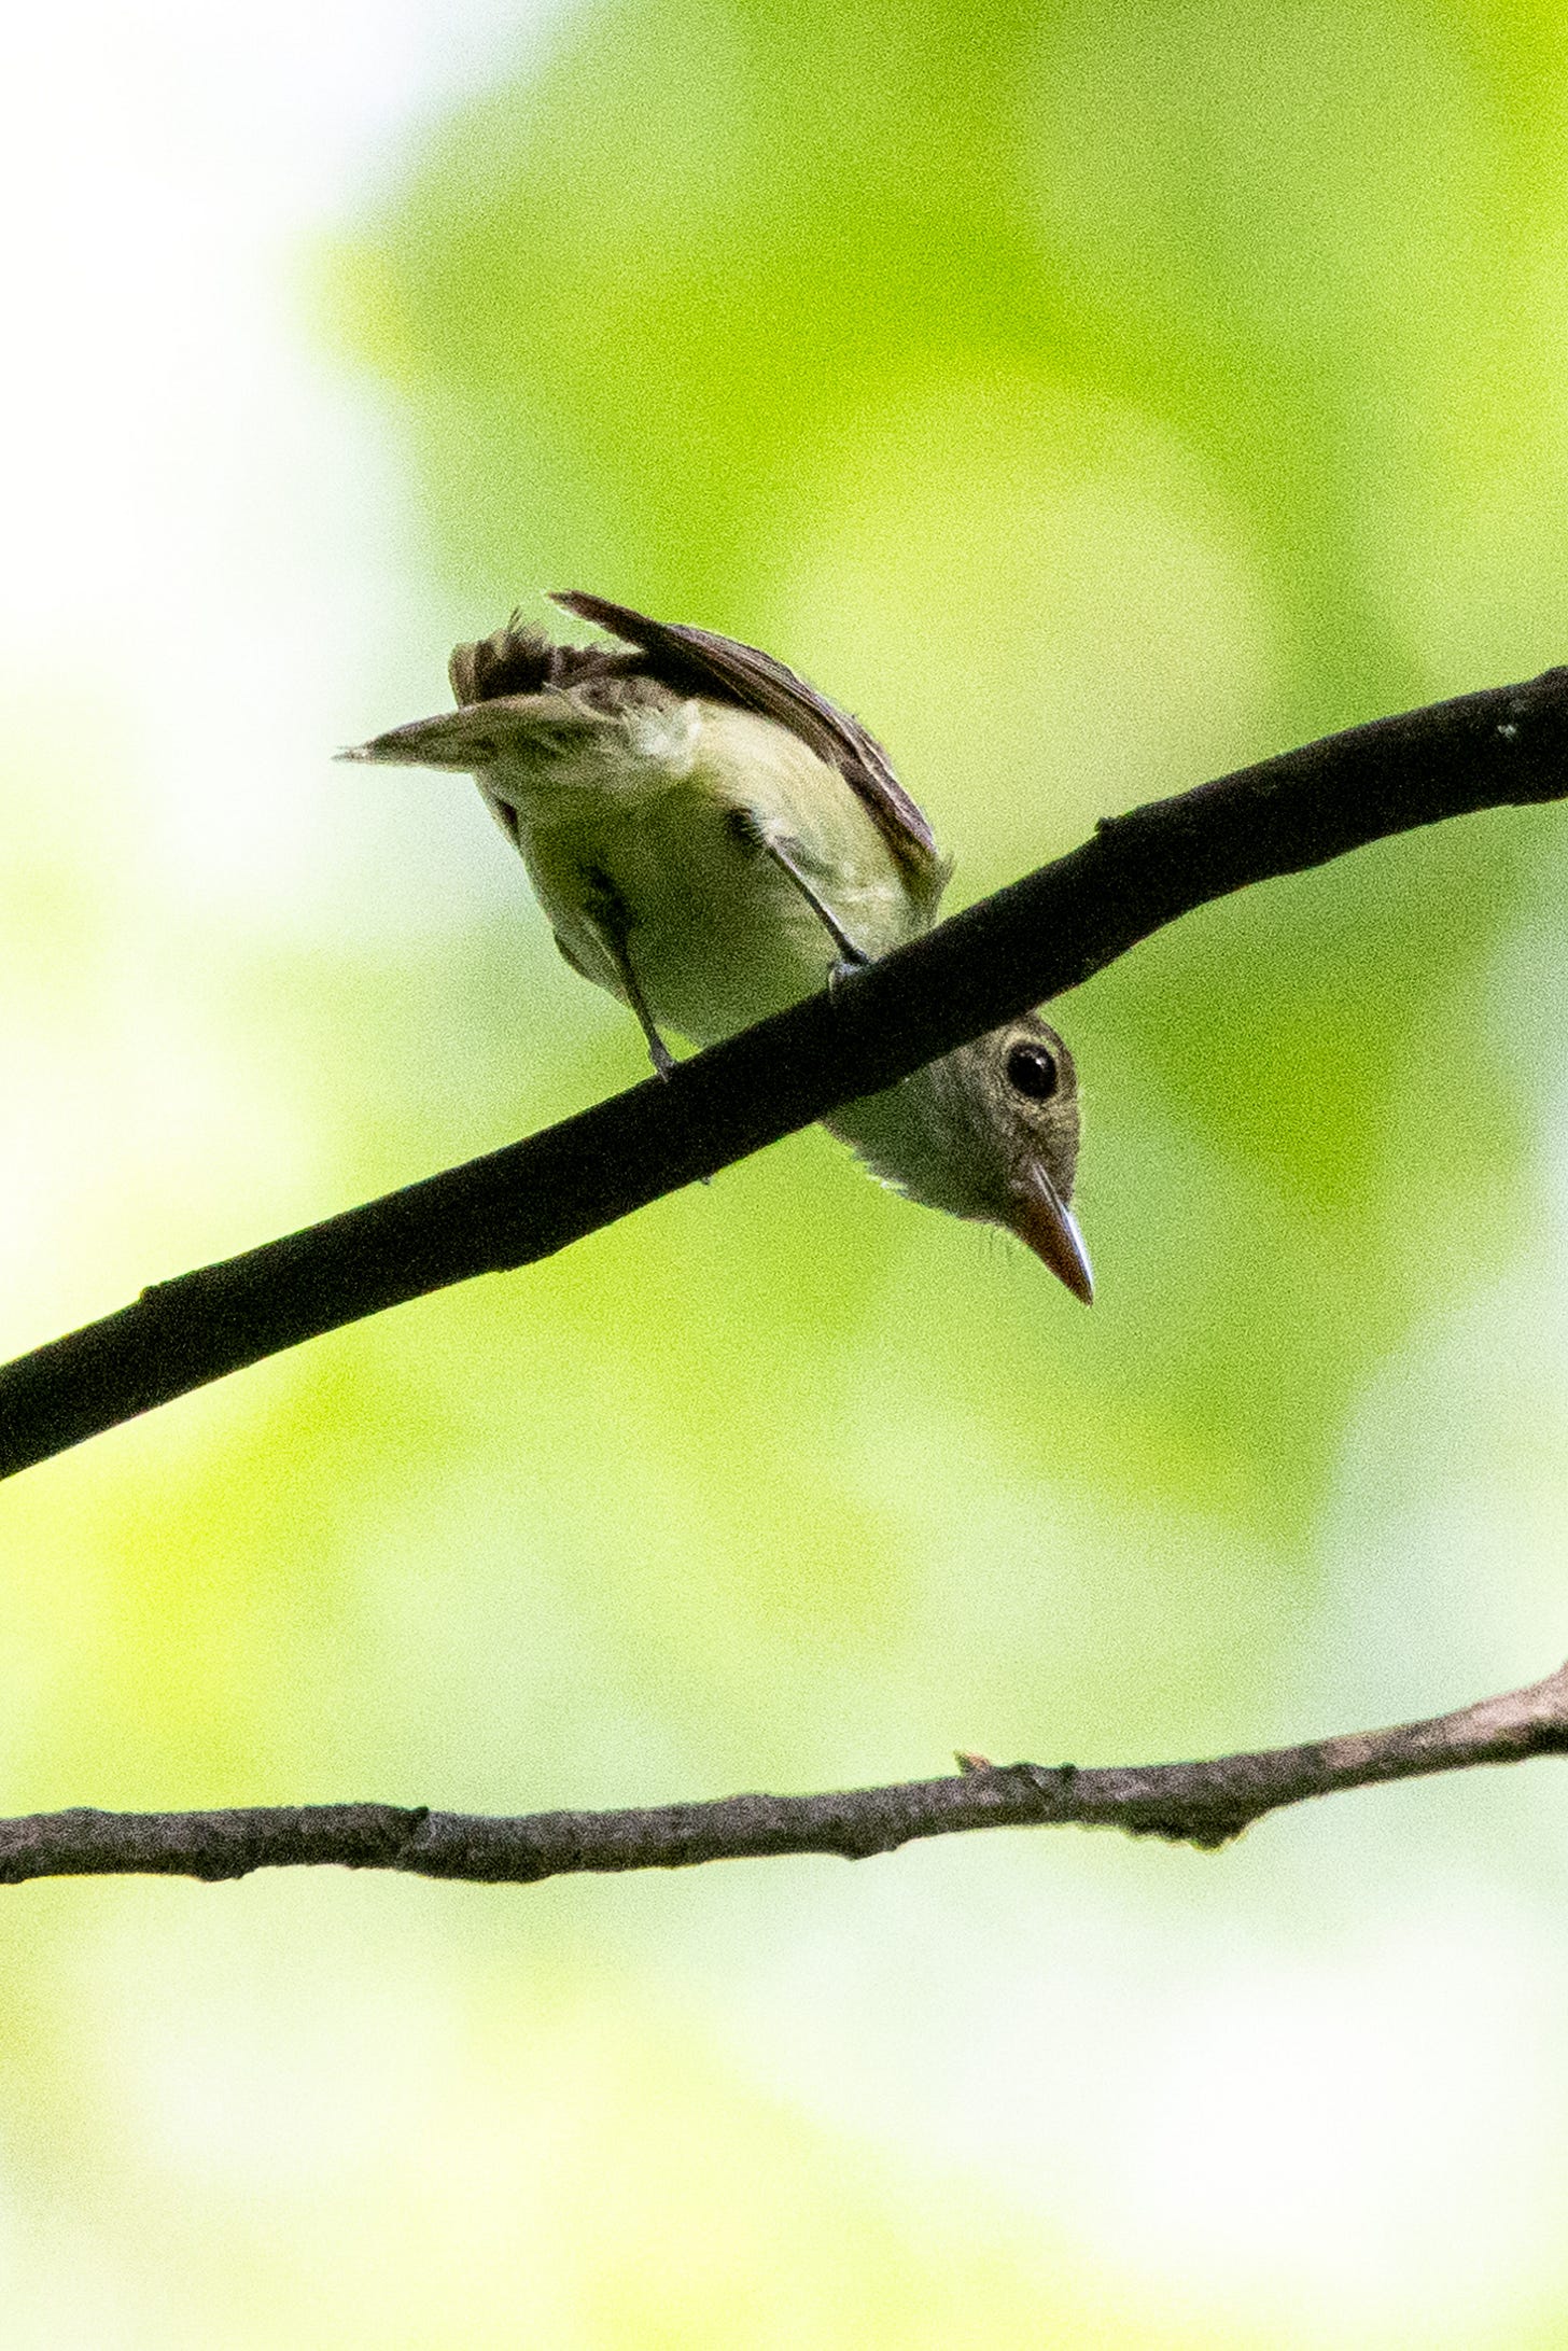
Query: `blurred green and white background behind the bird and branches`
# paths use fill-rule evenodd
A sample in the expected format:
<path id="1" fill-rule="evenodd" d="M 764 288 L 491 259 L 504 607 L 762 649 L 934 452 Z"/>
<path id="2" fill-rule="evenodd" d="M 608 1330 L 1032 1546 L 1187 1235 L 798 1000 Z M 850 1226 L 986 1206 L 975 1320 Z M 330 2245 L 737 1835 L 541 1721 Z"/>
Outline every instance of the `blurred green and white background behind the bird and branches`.
<path id="1" fill-rule="evenodd" d="M 628 1084 L 473 790 L 555 585 L 776 649 L 954 900 L 1568 654 L 1568 16 L 7 19 L 0 1342 Z M 823 1136 L 0 1495 L 5 1810 L 1131 1761 L 1566 1641 L 1559 811 L 1065 999 L 1081 1314 Z M 1201 1857 L 0 1902 L 26 2346 L 1556 2346 L 1549 1766 Z"/>

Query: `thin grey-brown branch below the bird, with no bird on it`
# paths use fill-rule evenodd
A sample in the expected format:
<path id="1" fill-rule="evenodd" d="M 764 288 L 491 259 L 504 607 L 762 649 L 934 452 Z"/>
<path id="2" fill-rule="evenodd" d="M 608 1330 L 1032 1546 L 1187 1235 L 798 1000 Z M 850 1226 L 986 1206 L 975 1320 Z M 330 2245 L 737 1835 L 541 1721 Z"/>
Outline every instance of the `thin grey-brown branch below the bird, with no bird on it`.
<path id="1" fill-rule="evenodd" d="M 1077 1770 L 1072 1763 L 980 1763 L 957 1780 L 856 1787 L 830 1796 L 724 1796 L 628 1813 L 407 1810 L 393 1803 L 306 1803 L 235 1813 L 33 1813 L 0 1822 L 0 1883 L 61 1876 L 242 1878 L 252 1869 L 334 1862 L 421 1878 L 534 1886 L 602 1869 L 689 1869 L 693 1862 L 839 1853 L 865 1860 L 917 1836 L 961 1829 L 1126 1829 L 1171 1843 L 1222 1846 L 1253 1820 L 1307 1796 L 1418 1780 L 1476 1763 L 1568 1751 L 1568 1665 L 1507 1697 L 1396 1730 L 1359 1730 L 1309 1747 Z"/>

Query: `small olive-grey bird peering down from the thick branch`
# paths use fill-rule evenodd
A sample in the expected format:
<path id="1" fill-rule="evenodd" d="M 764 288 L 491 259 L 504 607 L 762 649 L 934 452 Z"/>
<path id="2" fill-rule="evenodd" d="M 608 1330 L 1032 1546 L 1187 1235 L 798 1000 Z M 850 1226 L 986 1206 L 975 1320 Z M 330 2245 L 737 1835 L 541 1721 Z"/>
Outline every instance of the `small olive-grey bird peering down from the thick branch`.
<path id="1" fill-rule="evenodd" d="M 771 654 L 595 595 L 621 647 L 517 616 L 451 656 L 458 708 L 343 759 L 470 773 L 574 971 L 715 1044 L 919 938 L 950 877 L 886 752 Z M 1018 1234 L 1084 1305 L 1072 1056 L 1034 1013 L 823 1119 L 907 1199 Z"/>

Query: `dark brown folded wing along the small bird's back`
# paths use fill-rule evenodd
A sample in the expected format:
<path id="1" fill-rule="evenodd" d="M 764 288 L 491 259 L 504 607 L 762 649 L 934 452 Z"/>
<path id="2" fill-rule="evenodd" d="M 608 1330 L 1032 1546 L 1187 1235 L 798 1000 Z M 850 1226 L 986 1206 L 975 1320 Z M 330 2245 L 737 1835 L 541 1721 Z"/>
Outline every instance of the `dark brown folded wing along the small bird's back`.
<path id="1" fill-rule="evenodd" d="M 602 595 L 567 592 L 552 602 L 581 621 L 595 621 L 625 644 L 635 644 L 649 675 L 677 694 L 708 694 L 741 703 L 743 710 L 757 710 L 778 726 L 788 726 L 818 759 L 837 766 L 912 877 L 919 877 L 929 889 L 940 889 L 947 879 L 947 865 L 931 837 L 931 825 L 900 785 L 882 743 L 849 710 L 839 710 L 783 661 L 759 654 L 755 644 L 715 637 L 705 628 L 649 621 L 646 614 L 611 604 Z"/>

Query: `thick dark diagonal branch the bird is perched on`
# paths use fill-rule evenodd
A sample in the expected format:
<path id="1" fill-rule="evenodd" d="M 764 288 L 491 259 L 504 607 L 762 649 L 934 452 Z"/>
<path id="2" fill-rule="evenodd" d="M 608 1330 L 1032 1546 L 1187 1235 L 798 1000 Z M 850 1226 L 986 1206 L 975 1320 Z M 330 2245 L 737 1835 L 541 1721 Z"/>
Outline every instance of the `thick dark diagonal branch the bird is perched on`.
<path id="1" fill-rule="evenodd" d="M 1568 670 L 1378 719 L 1100 825 L 773 1020 L 545 1133 L 162 1281 L 0 1371 L 0 1476 L 449 1281 L 548 1258 L 907 1077 L 1227 891 L 1568 792 Z"/>

